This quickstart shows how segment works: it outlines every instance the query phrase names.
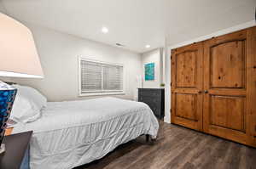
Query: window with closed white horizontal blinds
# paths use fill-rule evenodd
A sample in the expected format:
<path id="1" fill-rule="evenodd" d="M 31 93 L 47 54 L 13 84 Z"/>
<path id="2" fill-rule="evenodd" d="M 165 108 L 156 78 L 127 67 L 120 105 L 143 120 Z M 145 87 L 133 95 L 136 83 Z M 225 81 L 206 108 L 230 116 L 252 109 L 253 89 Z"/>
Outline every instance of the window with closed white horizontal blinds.
<path id="1" fill-rule="evenodd" d="M 79 59 L 80 95 L 123 93 L 123 65 Z"/>

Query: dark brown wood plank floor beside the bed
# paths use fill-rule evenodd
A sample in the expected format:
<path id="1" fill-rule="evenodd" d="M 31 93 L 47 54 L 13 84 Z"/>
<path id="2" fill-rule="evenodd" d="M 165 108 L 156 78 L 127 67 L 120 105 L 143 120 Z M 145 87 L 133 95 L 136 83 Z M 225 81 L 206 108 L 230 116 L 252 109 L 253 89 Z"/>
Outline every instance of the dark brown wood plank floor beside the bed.
<path id="1" fill-rule="evenodd" d="M 160 121 L 154 144 L 140 137 L 76 169 L 128 168 L 256 169 L 256 149 Z"/>

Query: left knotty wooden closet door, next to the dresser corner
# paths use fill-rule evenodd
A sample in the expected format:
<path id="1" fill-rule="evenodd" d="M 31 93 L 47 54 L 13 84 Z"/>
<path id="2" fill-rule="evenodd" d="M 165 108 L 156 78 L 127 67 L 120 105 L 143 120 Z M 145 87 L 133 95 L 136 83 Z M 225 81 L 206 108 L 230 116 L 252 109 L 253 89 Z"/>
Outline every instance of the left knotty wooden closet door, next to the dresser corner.
<path id="1" fill-rule="evenodd" d="M 172 123 L 202 131 L 203 47 L 172 50 Z"/>

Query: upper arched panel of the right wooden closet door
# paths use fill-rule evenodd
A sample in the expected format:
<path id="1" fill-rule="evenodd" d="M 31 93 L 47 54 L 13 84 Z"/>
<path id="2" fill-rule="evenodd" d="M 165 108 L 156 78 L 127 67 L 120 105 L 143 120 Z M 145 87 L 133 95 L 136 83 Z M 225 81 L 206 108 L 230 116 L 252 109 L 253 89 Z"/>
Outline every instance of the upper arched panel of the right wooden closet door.
<path id="1" fill-rule="evenodd" d="M 220 43 L 210 48 L 212 88 L 245 88 L 245 41 Z"/>

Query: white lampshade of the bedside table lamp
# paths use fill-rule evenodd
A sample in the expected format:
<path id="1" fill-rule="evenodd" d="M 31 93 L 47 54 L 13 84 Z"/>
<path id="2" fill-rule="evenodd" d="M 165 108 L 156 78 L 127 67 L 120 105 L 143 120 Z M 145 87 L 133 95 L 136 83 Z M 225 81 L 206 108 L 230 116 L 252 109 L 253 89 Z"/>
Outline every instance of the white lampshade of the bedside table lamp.
<path id="1" fill-rule="evenodd" d="M 32 32 L 0 13 L 0 76 L 44 76 Z"/>

